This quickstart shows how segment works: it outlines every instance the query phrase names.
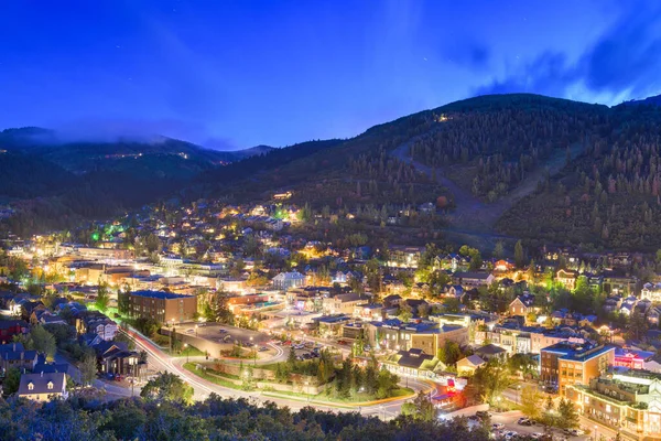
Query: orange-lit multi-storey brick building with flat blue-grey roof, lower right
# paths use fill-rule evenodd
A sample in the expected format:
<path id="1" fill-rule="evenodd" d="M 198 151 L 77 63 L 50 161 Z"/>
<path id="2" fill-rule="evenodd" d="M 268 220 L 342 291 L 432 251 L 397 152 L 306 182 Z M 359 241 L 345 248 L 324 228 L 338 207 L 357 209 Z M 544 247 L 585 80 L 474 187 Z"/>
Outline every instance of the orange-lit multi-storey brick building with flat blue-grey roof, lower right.
<path id="1" fill-rule="evenodd" d="M 589 343 L 561 342 L 544 347 L 540 356 L 540 378 L 565 395 L 568 385 L 588 385 L 615 362 L 615 347 Z"/>

